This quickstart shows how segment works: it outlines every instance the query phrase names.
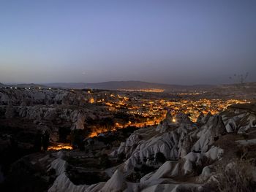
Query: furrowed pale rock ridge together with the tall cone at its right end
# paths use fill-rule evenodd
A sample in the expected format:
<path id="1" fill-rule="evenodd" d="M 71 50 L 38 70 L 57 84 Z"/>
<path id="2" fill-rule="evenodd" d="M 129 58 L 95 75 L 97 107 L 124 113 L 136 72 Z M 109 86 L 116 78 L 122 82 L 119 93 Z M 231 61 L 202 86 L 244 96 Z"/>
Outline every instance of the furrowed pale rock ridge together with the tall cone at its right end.
<path id="1" fill-rule="evenodd" d="M 171 126 L 173 129 L 170 128 Z M 214 141 L 222 134 L 225 134 L 225 125 L 219 115 L 212 116 L 205 125 L 197 128 L 187 118 L 187 115 L 180 114 L 176 116 L 176 123 L 171 123 L 165 132 L 154 131 L 151 128 L 143 132 L 141 130 L 135 131 L 127 139 L 127 142 L 121 143 L 118 150 L 112 155 L 121 153 L 127 155 L 127 161 L 124 162 L 124 172 L 129 172 L 141 164 L 155 166 L 157 153 L 162 153 L 169 160 L 187 159 L 191 155 L 193 157 L 199 155 L 195 158 L 196 161 L 193 159 L 193 162 L 198 163 L 201 158 L 206 157 L 204 154 L 211 150 Z M 185 161 L 186 167 L 190 161 L 192 161 L 191 158 Z M 191 171 L 189 168 L 186 170 L 184 174 Z"/>

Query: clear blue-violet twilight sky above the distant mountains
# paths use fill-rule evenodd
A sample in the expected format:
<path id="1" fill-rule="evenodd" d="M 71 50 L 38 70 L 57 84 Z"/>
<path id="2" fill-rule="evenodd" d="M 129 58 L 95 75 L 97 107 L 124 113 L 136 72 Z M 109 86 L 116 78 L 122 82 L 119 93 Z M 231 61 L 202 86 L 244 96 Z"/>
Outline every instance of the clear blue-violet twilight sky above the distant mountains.
<path id="1" fill-rule="evenodd" d="M 0 82 L 256 81 L 256 1 L 0 1 Z"/>

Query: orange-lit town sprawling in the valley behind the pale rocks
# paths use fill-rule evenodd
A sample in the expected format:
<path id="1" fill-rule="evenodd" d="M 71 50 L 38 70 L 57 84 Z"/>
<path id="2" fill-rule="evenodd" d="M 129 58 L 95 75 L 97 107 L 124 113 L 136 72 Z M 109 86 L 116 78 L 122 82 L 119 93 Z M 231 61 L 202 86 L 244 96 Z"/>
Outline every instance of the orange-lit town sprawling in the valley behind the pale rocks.
<path id="1" fill-rule="evenodd" d="M 88 93 L 90 104 L 105 106 L 111 113 L 121 112 L 137 117 L 133 121 L 129 120 L 128 123 L 115 122 L 115 126 L 111 131 L 127 126 L 145 127 L 157 125 L 165 118 L 167 110 L 170 110 L 173 117 L 180 112 L 187 114 L 192 122 L 195 122 L 200 113 L 203 113 L 203 115 L 208 113 L 215 115 L 232 104 L 249 102 L 246 99 L 198 98 L 201 93 L 152 93 L 151 90 L 103 91 L 99 93 L 94 93 L 91 90 Z M 186 99 L 181 98 L 184 95 L 187 96 Z M 95 137 L 104 131 L 107 130 L 99 128 L 91 133 L 90 137 Z"/>

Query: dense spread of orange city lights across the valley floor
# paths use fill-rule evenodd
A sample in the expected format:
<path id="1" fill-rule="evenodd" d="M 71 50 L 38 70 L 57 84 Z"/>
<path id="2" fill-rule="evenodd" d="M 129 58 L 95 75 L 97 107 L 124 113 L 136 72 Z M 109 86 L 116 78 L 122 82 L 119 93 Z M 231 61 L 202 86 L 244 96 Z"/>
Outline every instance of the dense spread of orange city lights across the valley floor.
<path id="1" fill-rule="evenodd" d="M 94 97 L 91 95 L 89 103 L 101 103 L 107 107 L 111 112 L 122 111 L 130 115 L 138 115 L 140 120 L 129 123 L 116 123 L 110 130 L 105 128 L 96 128 L 89 137 L 96 137 L 97 135 L 106 131 L 116 131 L 118 128 L 125 128 L 127 126 L 154 126 L 165 118 L 167 109 L 169 109 L 174 116 L 178 112 L 183 112 L 189 115 L 189 118 L 195 122 L 201 112 L 207 114 L 211 112 L 212 115 L 225 110 L 227 106 L 237 103 L 245 103 L 246 100 L 237 99 L 148 99 L 136 97 L 129 93 L 104 93 L 97 95 L 94 93 Z M 189 95 L 197 95 L 199 93 L 188 93 Z M 90 98 L 90 97 L 89 97 Z M 176 123 L 176 119 L 173 118 L 173 123 Z"/>

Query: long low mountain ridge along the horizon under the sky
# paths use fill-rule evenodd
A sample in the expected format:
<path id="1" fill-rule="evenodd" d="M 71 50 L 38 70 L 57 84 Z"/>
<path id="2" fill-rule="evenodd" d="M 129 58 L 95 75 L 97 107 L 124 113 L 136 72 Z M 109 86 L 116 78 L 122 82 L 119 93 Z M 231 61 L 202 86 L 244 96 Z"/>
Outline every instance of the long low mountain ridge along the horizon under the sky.
<path id="1" fill-rule="evenodd" d="M 53 82 L 44 84 L 20 83 L 3 84 L 0 87 L 18 87 L 18 88 L 74 88 L 74 89 L 103 89 L 103 90 L 142 90 L 142 89 L 162 89 L 164 91 L 218 91 L 227 89 L 256 88 L 256 82 L 245 82 L 243 84 L 222 84 L 222 85 L 170 85 L 157 82 L 143 81 L 108 81 L 108 82 Z"/>

